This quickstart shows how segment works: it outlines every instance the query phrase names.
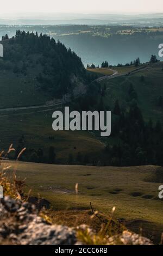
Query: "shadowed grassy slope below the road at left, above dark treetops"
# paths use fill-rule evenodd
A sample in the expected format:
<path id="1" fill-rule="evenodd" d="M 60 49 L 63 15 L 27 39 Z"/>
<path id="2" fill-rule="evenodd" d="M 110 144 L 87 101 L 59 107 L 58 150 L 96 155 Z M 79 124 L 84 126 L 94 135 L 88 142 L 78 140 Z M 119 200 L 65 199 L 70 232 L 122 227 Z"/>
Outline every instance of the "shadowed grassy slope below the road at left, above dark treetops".
<path id="1" fill-rule="evenodd" d="M 11 143 L 16 147 L 18 139 L 24 135 L 27 149 L 43 149 L 45 155 L 49 146 L 53 145 L 57 159 L 67 161 L 68 154 L 72 153 L 74 158 L 78 152 L 83 155 L 89 153 L 97 157 L 99 151 L 104 149 L 104 144 L 98 141 L 87 131 L 53 131 L 52 113 L 56 110 L 45 109 L 14 111 L 9 114 L 0 115 L 1 148 L 7 150 Z M 24 114 L 23 114 L 24 113 Z M 49 137 L 54 137 L 53 140 Z"/>

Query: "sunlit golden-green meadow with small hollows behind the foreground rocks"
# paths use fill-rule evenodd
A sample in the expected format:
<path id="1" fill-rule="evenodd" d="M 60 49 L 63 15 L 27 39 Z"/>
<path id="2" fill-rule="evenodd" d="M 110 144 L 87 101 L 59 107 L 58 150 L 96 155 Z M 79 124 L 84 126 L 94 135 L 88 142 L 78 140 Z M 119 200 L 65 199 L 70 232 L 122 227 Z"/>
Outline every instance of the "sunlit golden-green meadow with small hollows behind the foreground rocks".
<path id="1" fill-rule="evenodd" d="M 14 168 L 15 162 L 7 162 L 10 163 Z M 163 172 L 162 167 L 156 166 L 88 167 L 19 162 L 17 176 L 27 178 L 27 191 L 32 188 L 34 194 L 48 199 L 54 209 L 88 209 L 92 202 L 95 209 L 108 215 L 115 205 L 118 218 L 162 225 L 160 184 L 144 181 L 157 169 Z M 74 193 L 77 182 L 78 196 Z"/>

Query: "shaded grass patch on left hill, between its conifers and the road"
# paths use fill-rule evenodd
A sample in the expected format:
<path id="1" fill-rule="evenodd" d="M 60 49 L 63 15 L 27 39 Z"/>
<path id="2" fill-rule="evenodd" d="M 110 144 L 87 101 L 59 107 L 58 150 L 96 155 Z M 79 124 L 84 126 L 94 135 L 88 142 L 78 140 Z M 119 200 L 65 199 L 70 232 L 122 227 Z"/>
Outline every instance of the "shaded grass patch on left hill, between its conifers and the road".
<path id="1" fill-rule="evenodd" d="M 36 74 L 15 75 L 11 71 L 0 70 L 0 108 L 43 105 L 49 96 L 37 88 Z"/>

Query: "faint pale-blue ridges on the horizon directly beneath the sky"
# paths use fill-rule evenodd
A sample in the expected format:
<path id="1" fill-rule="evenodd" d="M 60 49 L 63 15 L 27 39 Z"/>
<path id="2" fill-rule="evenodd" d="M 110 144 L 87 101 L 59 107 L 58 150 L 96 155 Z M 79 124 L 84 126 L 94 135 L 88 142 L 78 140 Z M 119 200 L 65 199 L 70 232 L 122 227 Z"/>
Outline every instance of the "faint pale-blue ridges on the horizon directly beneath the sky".
<path id="1" fill-rule="evenodd" d="M 22 18 L 23 17 L 23 18 Z M 160 25 L 162 13 L 155 14 L 21 14 L 0 19 L 1 25 Z"/>

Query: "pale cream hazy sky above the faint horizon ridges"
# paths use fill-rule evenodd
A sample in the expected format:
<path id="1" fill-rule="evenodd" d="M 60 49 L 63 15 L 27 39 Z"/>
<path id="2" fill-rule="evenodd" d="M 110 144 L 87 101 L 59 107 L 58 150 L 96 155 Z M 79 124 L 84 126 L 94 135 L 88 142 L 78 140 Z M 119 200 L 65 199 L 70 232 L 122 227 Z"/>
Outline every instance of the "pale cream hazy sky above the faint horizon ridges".
<path id="1" fill-rule="evenodd" d="M 163 13 L 162 0 L 2 0 L 0 13 Z"/>

